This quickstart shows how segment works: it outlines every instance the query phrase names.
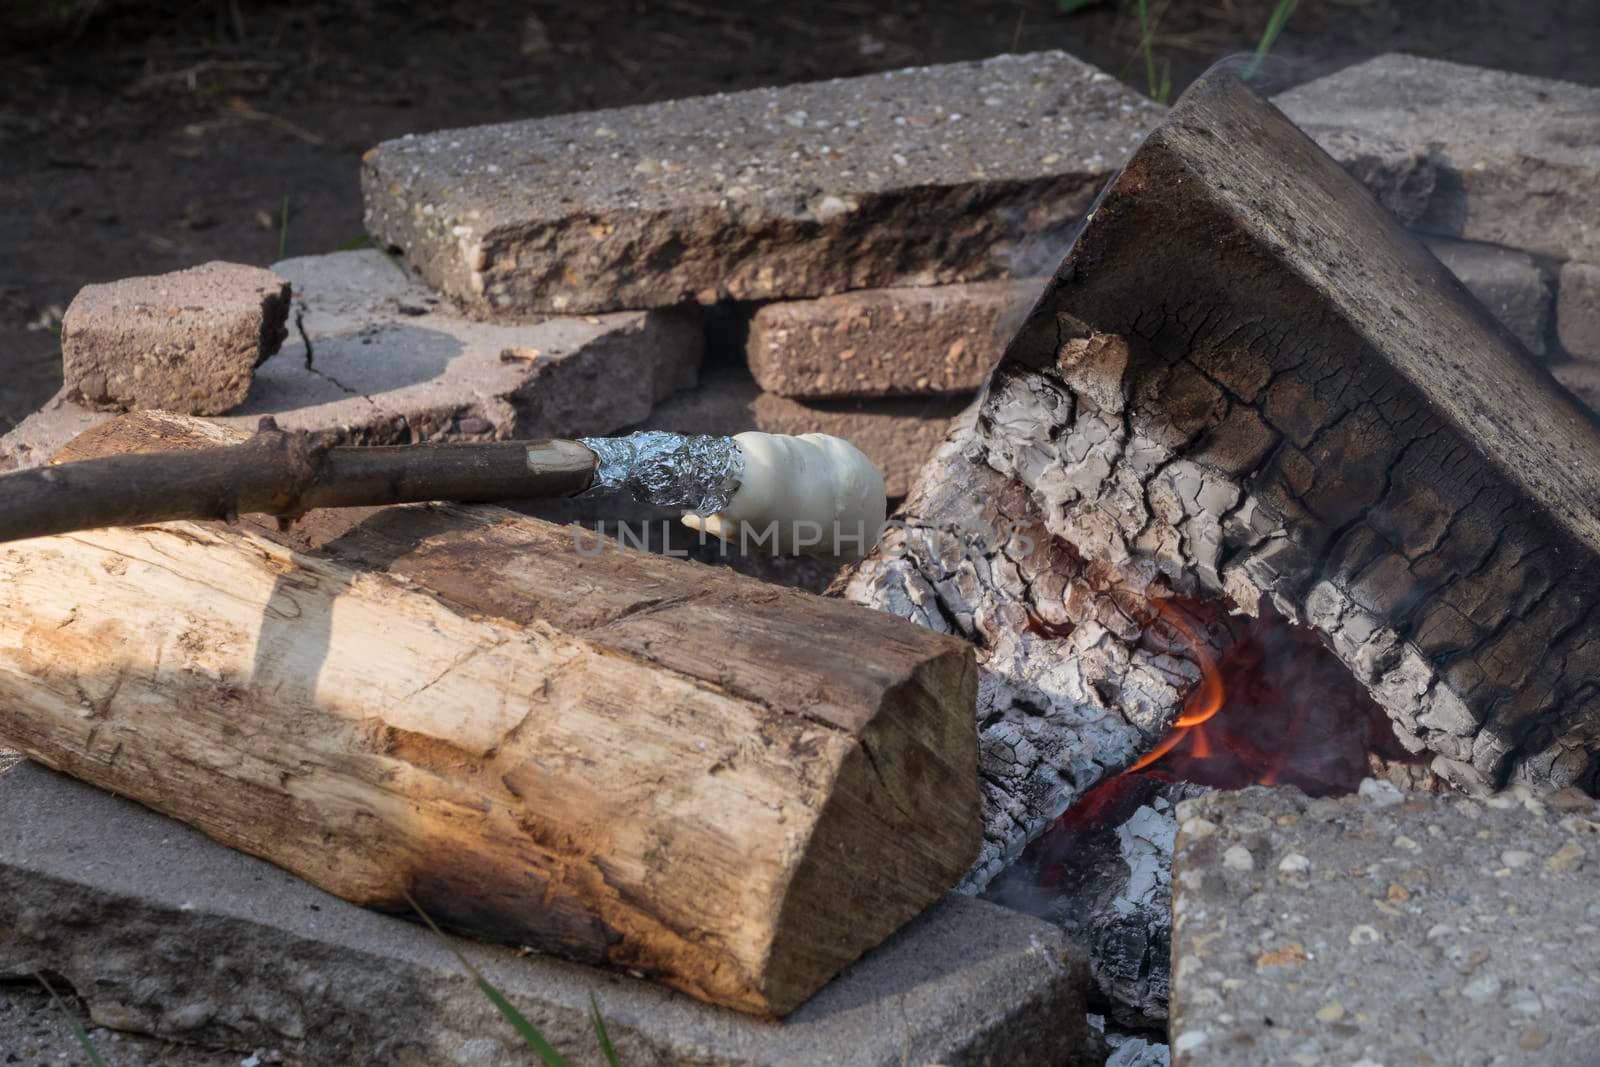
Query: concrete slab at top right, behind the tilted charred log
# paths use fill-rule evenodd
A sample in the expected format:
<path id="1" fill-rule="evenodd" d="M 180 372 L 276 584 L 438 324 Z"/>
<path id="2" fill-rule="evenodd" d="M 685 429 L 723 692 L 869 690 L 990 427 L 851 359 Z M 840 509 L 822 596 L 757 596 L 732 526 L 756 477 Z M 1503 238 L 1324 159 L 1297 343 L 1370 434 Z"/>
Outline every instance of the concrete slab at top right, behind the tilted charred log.
<path id="1" fill-rule="evenodd" d="M 1600 88 L 1387 54 L 1274 102 L 1408 226 L 1600 262 Z"/>

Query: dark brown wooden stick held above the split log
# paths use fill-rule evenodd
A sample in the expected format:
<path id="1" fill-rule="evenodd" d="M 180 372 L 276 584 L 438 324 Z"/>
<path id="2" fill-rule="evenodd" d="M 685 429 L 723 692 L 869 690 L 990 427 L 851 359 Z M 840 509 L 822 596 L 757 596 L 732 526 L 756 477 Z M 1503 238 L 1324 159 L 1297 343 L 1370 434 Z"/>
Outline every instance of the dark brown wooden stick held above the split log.
<path id="1" fill-rule="evenodd" d="M 595 454 L 578 442 L 333 446 L 262 419 L 242 445 L 0 475 L 0 542 L 256 512 L 294 518 L 317 507 L 571 496 L 594 470 Z"/>

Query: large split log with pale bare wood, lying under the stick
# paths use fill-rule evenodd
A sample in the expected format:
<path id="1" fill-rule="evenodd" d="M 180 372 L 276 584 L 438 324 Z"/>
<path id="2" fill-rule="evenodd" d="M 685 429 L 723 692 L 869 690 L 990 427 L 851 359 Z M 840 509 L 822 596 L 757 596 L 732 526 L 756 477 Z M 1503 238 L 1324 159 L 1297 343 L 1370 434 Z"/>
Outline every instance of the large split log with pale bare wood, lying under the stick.
<path id="1" fill-rule="evenodd" d="M 582 549 L 462 506 L 3 545 L 0 737 L 360 904 L 784 1014 L 971 862 L 971 653 Z"/>

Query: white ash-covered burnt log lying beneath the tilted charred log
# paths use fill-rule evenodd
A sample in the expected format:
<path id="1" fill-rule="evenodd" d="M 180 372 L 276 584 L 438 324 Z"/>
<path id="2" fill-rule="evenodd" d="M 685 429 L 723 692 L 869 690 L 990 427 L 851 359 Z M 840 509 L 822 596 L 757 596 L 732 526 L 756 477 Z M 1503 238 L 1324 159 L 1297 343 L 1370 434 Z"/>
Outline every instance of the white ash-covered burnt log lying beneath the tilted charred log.
<path id="1" fill-rule="evenodd" d="M 1187 649 L 1139 619 L 1155 573 L 1130 579 L 1053 537 L 982 461 L 974 414 L 955 421 L 902 525 L 843 585 L 856 603 L 978 646 L 984 843 L 968 893 L 1165 736 L 1200 678 Z"/>

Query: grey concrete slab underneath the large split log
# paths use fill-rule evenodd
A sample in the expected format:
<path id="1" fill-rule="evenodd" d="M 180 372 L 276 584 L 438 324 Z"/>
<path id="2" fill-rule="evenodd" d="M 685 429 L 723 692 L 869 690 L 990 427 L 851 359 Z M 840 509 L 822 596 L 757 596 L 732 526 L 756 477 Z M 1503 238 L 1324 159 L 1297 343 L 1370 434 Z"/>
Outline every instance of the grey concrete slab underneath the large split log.
<path id="1" fill-rule="evenodd" d="M 0 774 L 0 977 L 50 969 L 94 1022 L 315 1064 L 526 1064 L 450 947 L 138 805 L 24 763 Z M 574 1064 L 598 1001 L 622 1062 L 1086 1062 L 1062 933 L 952 896 L 786 1022 L 456 941 Z M 1093 1061 L 1099 1062 L 1099 1061 Z"/>

